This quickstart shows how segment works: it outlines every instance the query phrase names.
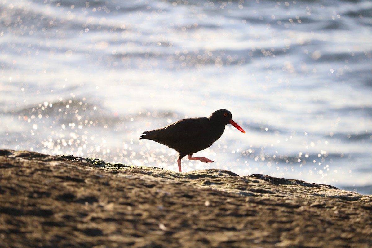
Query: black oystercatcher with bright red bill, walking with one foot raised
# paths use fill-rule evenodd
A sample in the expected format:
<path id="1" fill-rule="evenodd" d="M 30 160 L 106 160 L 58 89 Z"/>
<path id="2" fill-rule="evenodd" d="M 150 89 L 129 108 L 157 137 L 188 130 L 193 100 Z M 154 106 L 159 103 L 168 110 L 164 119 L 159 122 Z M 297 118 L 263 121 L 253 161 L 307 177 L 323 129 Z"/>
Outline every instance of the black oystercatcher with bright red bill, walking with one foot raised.
<path id="1" fill-rule="evenodd" d="M 200 160 L 205 163 L 214 162 L 205 157 L 192 157 L 192 154 L 208 148 L 217 141 L 224 133 L 227 124 L 231 124 L 245 133 L 243 128 L 232 120 L 230 111 L 220 109 L 213 112 L 209 118 L 183 119 L 164 128 L 143 132 L 144 135 L 140 139 L 151 139 L 176 150 L 179 153 L 177 164 L 181 172 L 181 159 L 186 155 L 188 155 L 189 160 Z"/>

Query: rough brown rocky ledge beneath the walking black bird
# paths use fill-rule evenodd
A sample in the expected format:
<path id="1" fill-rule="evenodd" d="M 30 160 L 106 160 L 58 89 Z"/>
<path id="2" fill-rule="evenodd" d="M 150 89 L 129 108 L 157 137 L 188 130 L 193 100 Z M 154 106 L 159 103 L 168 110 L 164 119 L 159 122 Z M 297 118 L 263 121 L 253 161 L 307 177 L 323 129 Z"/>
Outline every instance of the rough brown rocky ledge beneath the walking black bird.
<path id="1" fill-rule="evenodd" d="M 372 247 L 372 196 L 0 150 L 0 247 Z"/>

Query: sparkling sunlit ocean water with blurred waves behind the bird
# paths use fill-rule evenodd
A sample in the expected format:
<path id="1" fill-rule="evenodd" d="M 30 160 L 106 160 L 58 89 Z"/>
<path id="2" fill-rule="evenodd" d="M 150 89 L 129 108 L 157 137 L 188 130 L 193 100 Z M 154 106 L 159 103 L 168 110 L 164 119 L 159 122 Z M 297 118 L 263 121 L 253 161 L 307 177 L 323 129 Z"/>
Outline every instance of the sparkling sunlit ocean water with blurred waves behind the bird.
<path id="1" fill-rule="evenodd" d="M 143 131 L 228 109 L 183 171 L 372 194 L 369 0 L 0 0 L 0 148 L 177 171 Z"/>

